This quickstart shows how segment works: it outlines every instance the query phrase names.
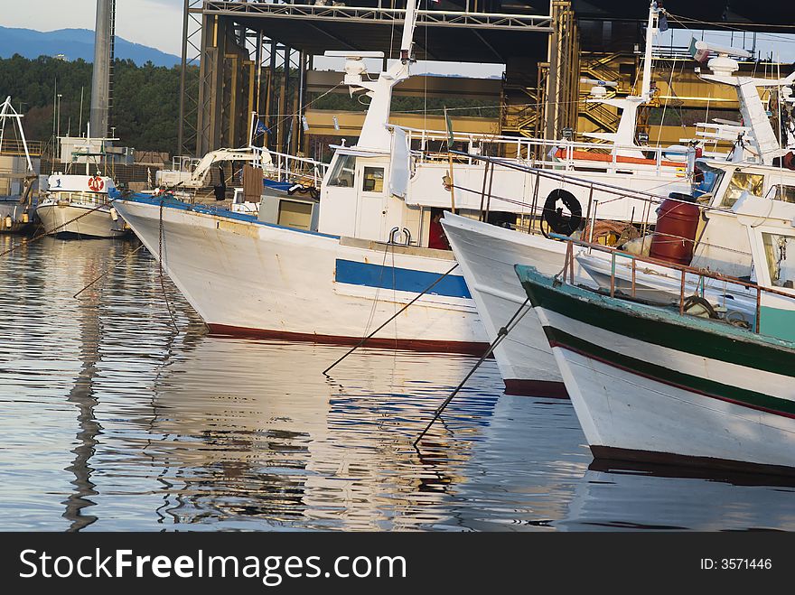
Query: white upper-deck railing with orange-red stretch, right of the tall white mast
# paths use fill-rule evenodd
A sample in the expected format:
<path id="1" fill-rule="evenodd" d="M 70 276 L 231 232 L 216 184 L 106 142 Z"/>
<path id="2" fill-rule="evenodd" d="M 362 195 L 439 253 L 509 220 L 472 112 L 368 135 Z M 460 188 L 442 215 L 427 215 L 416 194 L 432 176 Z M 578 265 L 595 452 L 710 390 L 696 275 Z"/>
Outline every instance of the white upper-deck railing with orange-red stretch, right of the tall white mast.
<path id="1" fill-rule="evenodd" d="M 441 162 L 447 153 L 441 151 L 449 141 L 446 131 L 425 130 L 407 126 L 400 128 L 407 135 L 408 146 L 419 163 Z M 574 140 L 542 140 L 521 136 L 490 135 L 484 133 L 453 133 L 459 155 L 491 155 L 530 164 L 545 169 L 595 170 L 609 172 L 663 172 L 687 176 L 689 153 L 685 146 L 660 147 L 607 143 L 586 143 Z M 438 145 L 438 149 L 435 149 Z M 640 155 L 640 156 L 639 156 Z M 472 164 L 472 157 L 464 156 L 463 163 Z"/>

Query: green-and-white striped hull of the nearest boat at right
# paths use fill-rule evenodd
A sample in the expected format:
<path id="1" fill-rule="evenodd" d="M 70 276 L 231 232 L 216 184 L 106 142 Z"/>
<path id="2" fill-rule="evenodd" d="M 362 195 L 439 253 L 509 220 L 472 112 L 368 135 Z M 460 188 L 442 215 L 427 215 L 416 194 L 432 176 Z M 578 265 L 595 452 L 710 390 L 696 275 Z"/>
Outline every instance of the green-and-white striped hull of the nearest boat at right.
<path id="1" fill-rule="evenodd" d="M 595 458 L 795 472 L 791 343 L 755 348 L 750 331 L 545 287 L 535 311 Z"/>

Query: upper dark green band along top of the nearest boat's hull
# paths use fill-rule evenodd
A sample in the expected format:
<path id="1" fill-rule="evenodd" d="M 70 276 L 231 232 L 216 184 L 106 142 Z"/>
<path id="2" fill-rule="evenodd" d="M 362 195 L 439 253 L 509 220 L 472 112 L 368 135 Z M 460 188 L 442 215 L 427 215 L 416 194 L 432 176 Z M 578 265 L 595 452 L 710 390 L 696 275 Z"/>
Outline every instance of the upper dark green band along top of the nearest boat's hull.
<path id="1" fill-rule="evenodd" d="M 610 298 L 572 285 L 560 284 L 553 289 L 553 280 L 532 267 L 517 265 L 516 270 L 534 306 L 683 354 L 795 377 L 795 344 L 791 342 L 762 337 L 723 322 L 682 316 L 678 311 Z"/>

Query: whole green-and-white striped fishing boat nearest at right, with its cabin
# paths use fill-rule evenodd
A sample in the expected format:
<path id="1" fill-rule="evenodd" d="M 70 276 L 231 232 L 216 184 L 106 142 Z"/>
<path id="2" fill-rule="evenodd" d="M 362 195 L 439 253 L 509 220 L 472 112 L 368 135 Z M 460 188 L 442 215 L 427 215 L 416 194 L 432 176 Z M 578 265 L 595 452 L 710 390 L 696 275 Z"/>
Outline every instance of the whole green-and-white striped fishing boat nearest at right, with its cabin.
<path id="1" fill-rule="evenodd" d="M 795 472 L 795 209 L 745 194 L 735 210 L 759 275 L 751 329 L 516 266 L 595 458 Z"/>

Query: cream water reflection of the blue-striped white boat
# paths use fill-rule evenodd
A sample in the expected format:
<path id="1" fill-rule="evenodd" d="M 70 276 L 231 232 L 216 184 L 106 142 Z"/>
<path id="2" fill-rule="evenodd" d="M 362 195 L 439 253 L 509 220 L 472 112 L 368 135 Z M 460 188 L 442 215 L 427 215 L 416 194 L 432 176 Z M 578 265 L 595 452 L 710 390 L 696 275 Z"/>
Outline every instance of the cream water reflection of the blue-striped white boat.
<path id="1" fill-rule="evenodd" d="M 364 349 L 323 377 L 339 352 L 203 338 L 174 358 L 155 388 L 151 432 L 163 439 L 147 449 L 172 484 L 164 511 L 182 523 L 254 516 L 355 529 L 443 520 L 448 487 L 464 481 L 467 436 L 488 423 L 499 378 L 488 372 L 489 390 L 454 404 L 417 453 L 416 432 L 473 360 L 432 356 L 431 383 L 416 377 L 427 360 Z"/>

